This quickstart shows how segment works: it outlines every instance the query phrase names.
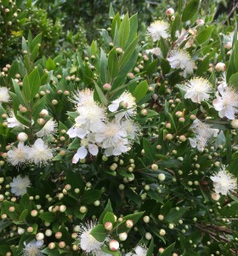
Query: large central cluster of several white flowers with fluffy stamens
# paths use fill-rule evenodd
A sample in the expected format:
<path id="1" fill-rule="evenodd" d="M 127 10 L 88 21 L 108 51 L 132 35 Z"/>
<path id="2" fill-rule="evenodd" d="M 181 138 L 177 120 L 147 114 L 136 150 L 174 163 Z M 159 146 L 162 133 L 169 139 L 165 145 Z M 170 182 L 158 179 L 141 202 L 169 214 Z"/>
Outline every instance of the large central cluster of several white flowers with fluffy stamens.
<path id="1" fill-rule="evenodd" d="M 88 152 L 97 155 L 99 148 L 105 149 L 106 156 L 120 155 L 130 149 L 138 135 L 139 125 L 132 120 L 136 114 L 136 103 L 129 92 L 123 92 L 108 106 L 114 113 L 113 119 L 108 117 L 105 106 L 94 101 L 93 90 L 78 91 L 73 102 L 79 115 L 67 134 L 81 139 L 81 147 L 77 149 L 73 163 L 84 159 Z"/>

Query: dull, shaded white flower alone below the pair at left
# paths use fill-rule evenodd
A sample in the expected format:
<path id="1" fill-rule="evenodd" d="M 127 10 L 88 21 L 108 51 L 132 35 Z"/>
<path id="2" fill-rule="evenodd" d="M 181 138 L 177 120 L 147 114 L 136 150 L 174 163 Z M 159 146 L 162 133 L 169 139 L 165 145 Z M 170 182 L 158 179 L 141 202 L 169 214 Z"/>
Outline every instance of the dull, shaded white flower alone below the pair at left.
<path id="1" fill-rule="evenodd" d="M 26 188 L 30 187 L 30 184 L 29 177 L 20 177 L 20 175 L 18 175 L 17 177 L 14 177 L 13 182 L 10 183 L 11 192 L 17 196 L 24 195 L 26 194 Z"/>

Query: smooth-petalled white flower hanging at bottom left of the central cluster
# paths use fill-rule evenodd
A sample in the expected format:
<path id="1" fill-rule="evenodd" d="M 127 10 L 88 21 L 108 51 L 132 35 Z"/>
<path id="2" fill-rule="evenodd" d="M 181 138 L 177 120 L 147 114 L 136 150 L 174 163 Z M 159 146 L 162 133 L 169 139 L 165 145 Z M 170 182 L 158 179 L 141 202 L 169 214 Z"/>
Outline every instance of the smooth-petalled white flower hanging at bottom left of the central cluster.
<path id="1" fill-rule="evenodd" d="M 73 156 L 72 163 L 77 164 L 78 160 L 84 159 L 88 152 L 92 155 L 99 153 L 99 148 L 95 143 L 94 134 L 88 134 L 88 138 L 81 141 L 81 147 L 77 149 L 77 153 Z"/>

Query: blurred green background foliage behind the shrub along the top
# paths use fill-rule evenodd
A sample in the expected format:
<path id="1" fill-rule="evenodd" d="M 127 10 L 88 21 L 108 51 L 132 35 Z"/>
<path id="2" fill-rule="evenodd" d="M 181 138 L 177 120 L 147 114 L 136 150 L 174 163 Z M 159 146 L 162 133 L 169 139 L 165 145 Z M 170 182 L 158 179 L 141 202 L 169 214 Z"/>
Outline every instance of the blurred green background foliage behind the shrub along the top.
<path id="1" fill-rule="evenodd" d="M 229 22 L 235 0 L 203 0 L 203 15 Z M 177 8 L 173 0 L 0 0 L 0 67 L 19 55 L 21 38 L 29 31 L 42 33 L 42 55 L 61 51 L 70 56 L 82 51 L 82 45 L 99 38 L 100 29 L 110 25 L 110 3 L 116 12 L 139 13 L 139 31 L 144 32 L 150 21 L 163 15 L 164 9 Z M 143 39 L 143 37 L 142 37 Z"/>

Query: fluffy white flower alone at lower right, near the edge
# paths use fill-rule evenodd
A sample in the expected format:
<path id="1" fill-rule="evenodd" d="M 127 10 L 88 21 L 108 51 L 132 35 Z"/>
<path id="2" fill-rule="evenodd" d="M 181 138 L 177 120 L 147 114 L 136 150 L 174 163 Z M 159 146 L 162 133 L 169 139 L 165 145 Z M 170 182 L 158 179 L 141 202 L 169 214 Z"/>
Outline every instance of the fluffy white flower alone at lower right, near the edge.
<path id="1" fill-rule="evenodd" d="M 223 166 L 217 175 L 211 177 L 214 190 L 217 194 L 227 195 L 237 189 L 236 177 Z"/>

